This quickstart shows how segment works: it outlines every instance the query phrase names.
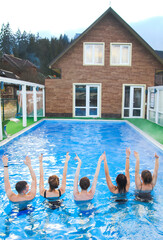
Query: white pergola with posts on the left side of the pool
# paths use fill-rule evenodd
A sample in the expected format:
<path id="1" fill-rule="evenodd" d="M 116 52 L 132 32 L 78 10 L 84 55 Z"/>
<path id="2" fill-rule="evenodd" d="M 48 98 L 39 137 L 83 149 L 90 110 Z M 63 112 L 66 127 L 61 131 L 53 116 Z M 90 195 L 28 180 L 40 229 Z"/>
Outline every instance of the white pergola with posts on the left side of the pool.
<path id="1" fill-rule="evenodd" d="M 34 112 L 34 122 L 37 121 L 37 96 L 36 96 L 36 88 L 42 89 L 43 94 L 43 117 L 45 117 L 45 86 L 37 83 L 26 82 L 23 80 L 17 80 L 12 78 L 0 77 L 1 82 L 22 86 L 22 115 L 23 115 L 23 127 L 27 126 L 27 100 L 26 100 L 26 88 L 27 86 L 33 88 L 33 112 Z M 2 116 L 1 116 L 1 96 L 0 96 L 0 140 L 3 140 L 2 134 Z"/>

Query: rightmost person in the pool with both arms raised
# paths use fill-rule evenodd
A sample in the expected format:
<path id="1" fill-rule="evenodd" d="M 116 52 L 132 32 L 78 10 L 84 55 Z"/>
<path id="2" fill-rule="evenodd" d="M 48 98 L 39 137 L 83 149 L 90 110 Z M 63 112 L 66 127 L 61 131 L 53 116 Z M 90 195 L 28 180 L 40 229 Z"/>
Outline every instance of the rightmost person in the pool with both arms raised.
<path id="1" fill-rule="evenodd" d="M 141 191 L 152 191 L 156 185 L 158 168 L 159 168 L 159 157 L 155 153 L 155 168 L 153 171 L 153 176 L 149 170 L 144 170 L 139 175 L 139 153 L 134 151 L 134 156 L 136 158 L 135 165 L 135 185 L 137 190 Z"/>

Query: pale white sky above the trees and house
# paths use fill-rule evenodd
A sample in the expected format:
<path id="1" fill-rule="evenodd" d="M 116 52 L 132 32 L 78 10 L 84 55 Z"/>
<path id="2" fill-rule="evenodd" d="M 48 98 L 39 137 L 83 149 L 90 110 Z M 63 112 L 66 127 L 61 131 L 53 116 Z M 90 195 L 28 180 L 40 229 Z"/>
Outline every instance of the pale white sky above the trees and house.
<path id="1" fill-rule="evenodd" d="M 0 26 L 9 22 L 13 32 L 71 38 L 110 6 L 128 24 L 163 16 L 163 0 L 2 0 Z"/>

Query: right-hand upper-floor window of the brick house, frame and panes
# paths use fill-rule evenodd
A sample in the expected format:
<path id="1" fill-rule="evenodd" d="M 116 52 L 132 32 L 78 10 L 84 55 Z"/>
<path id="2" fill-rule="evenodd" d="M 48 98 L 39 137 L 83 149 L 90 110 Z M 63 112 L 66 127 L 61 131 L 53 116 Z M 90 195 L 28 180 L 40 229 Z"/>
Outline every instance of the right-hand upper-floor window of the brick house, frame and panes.
<path id="1" fill-rule="evenodd" d="M 110 65 L 111 66 L 131 66 L 131 43 L 111 43 L 110 44 Z"/>

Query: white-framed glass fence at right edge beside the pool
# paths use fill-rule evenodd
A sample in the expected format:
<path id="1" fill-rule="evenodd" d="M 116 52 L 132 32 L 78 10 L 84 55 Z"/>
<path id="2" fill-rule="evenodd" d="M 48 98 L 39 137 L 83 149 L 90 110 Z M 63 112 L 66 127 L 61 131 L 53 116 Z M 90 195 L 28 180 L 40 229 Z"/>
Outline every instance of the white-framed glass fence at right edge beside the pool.
<path id="1" fill-rule="evenodd" d="M 163 86 L 148 88 L 147 119 L 163 126 Z"/>

